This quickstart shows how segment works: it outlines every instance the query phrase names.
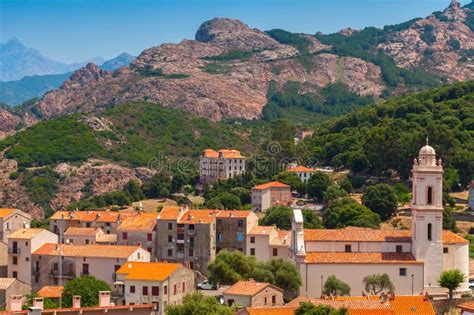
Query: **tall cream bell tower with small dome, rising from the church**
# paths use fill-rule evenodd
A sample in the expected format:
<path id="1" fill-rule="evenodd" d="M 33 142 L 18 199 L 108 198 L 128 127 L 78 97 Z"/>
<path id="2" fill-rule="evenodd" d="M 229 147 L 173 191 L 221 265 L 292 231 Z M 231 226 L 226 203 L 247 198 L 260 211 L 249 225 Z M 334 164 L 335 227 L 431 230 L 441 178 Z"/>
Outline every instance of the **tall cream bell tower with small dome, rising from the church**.
<path id="1" fill-rule="evenodd" d="M 443 166 L 433 147 L 413 160 L 412 253 L 424 262 L 426 292 L 438 291 L 443 271 Z"/>

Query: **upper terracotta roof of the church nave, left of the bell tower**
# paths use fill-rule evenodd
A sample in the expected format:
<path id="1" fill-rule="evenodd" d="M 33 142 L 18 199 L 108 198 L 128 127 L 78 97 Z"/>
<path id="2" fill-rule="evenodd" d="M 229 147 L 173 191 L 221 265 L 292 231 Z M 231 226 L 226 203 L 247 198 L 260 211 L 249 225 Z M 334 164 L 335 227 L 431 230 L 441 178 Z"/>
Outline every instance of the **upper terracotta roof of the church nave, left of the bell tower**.
<path id="1" fill-rule="evenodd" d="M 409 230 L 374 230 L 369 228 L 346 227 L 344 229 L 305 229 L 305 241 L 339 242 L 411 242 Z"/>

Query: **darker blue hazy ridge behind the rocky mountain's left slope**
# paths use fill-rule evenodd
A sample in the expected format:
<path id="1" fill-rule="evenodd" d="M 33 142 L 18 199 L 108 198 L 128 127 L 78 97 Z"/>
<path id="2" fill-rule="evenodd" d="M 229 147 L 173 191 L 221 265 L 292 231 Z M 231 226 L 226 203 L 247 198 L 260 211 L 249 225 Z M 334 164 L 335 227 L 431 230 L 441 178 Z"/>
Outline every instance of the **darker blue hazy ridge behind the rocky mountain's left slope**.
<path id="1" fill-rule="evenodd" d="M 134 59 L 134 56 L 122 53 L 102 63 L 100 68 L 113 71 L 120 67 L 127 67 Z M 102 59 L 95 60 L 101 61 Z M 77 68 L 80 68 L 80 66 L 77 65 Z M 34 97 L 41 98 L 44 93 L 59 88 L 71 74 L 71 72 L 67 72 L 62 74 L 33 75 L 25 76 L 16 81 L 0 82 L 0 102 L 16 106 Z"/>

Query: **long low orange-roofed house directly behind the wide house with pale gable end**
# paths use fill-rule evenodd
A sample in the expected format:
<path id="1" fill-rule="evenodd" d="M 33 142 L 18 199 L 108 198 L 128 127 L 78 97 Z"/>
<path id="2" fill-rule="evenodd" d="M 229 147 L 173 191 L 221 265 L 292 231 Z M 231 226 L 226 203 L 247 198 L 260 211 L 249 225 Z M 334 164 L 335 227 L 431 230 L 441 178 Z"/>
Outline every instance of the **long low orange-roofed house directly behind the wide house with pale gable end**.
<path id="1" fill-rule="evenodd" d="M 50 218 L 49 228 L 64 243 L 64 232 L 70 227 L 101 228 L 105 234 L 116 234 L 123 220 L 136 215 L 135 211 L 57 211 Z"/>

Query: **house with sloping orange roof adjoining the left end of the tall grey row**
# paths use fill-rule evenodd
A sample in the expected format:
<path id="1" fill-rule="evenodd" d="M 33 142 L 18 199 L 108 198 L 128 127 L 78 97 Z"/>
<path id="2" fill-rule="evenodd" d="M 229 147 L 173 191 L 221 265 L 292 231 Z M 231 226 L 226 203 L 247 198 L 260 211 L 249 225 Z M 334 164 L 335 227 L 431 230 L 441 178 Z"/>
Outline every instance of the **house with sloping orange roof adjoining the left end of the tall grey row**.
<path id="1" fill-rule="evenodd" d="M 140 213 L 128 217 L 117 227 L 119 245 L 139 245 L 148 251 L 152 260 L 156 256 L 156 225 L 158 213 Z"/>

